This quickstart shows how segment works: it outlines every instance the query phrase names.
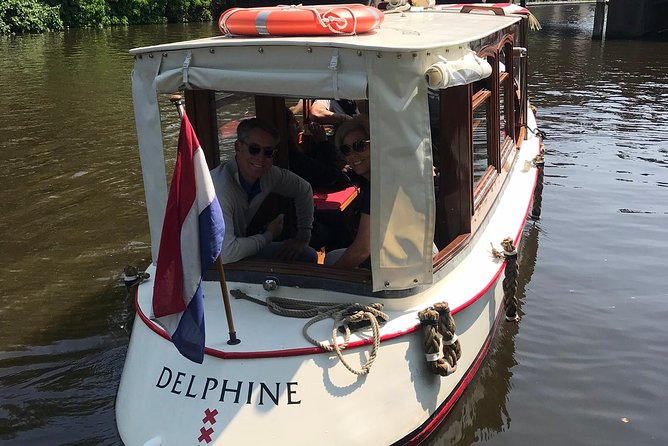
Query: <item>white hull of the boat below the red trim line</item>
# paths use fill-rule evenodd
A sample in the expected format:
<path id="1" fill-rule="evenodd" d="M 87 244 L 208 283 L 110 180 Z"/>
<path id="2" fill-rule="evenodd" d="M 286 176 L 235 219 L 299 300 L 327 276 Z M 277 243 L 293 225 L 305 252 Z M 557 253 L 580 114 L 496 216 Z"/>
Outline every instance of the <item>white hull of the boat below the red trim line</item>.
<path id="1" fill-rule="evenodd" d="M 333 353 L 207 355 L 199 365 L 137 317 L 116 403 L 121 437 L 127 445 L 159 439 L 165 446 L 416 441 L 445 416 L 484 357 L 503 300 L 501 279 L 456 314 L 462 357 L 447 377 L 428 370 L 420 330 L 383 341 L 371 372 L 358 378 Z M 359 364 L 365 349 L 344 357 Z M 433 417 L 433 426 L 425 425 Z"/>

